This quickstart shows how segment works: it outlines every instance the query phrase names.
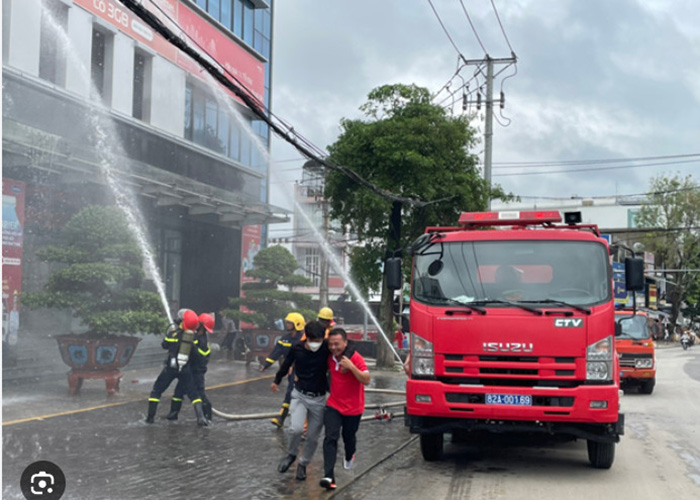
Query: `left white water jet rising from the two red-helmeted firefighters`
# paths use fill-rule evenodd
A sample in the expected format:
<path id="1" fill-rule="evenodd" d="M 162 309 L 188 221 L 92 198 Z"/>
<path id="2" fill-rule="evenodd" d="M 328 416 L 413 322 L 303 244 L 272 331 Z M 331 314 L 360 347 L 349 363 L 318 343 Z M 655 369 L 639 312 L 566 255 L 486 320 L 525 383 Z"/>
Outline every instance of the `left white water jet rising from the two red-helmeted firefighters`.
<path id="1" fill-rule="evenodd" d="M 90 72 L 85 67 L 80 58 L 77 56 L 72 41 L 70 40 L 70 38 L 68 38 L 68 34 L 64 31 L 63 27 L 56 22 L 50 10 L 44 6 L 43 2 L 41 0 L 36 1 L 40 4 L 42 16 L 45 16 L 45 19 L 48 21 L 48 24 L 50 25 L 51 30 L 54 36 L 56 37 L 57 41 L 62 45 L 62 48 L 65 50 L 68 57 L 74 63 L 75 68 L 77 68 L 80 71 L 81 77 L 85 79 L 85 81 L 90 83 L 90 95 L 99 95 L 92 81 L 92 77 L 90 76 Z M 113 139 L 118 138 L 119 135 L 117 134 L 111 119 L 105 118 L 105 115 L 109 112 L 109 110 L 105 108 L 102 105 L 102 103 L 99 103 L 98 106 L 98 103 L 93 101 L 91 104 L 95 107 L 102 108 L 102 112 L 90 112 L 88 113 L 87 117 L 89 123 L 94 128 L 97 136 L 97 144 L 95 150 L 97 151 L 100 160 L 99 168 L 102 171 L 105 180 L 107 181 L 107 185 L 109 186 L 110 190 L 112 191 L 112 194 L 115 197 L 117 206 L 122 210 L 122 212 L 127 218 L 129 226 L 134 231 L 136 241 L 143 253 L 143 259 L 146 268 L 151 274 L 151 278 L 156 286 L 158 296 L 160 297 L 161 303 L 163 304 L 163 309 L 165 310 L 165 313 L 168 316 L 168 320 L 170 323 L 172 323 L 173 317 L 170 312 L 170 307 L 168 306 L 168 300 L 165 293 L 165 285 L 163 284 L 163 279 L 161 278 L 160 271 L 158 269 L 158 266 L 156 265 L 153 252 L 151 250 L 151 246 L 148 242 L 148 237 L 146 236 L 145 224 L 143 223 L 143 219 L 140 215 L 140 212 L 136 208 L 137 205 L 135 196 L 133 192 L 126 189 L 125 186 L 118 182 L 116 172 L 112 167 L 113 164 L 116 164 L 116 154 L 114 152 L 115 144 L 119 147 L 122 153 L 124 152 L 124 148 L 118 139 Z M 109 129 L 110 132 L 112 132 L 111 135 L 107 134 L 105 129 Z"/>

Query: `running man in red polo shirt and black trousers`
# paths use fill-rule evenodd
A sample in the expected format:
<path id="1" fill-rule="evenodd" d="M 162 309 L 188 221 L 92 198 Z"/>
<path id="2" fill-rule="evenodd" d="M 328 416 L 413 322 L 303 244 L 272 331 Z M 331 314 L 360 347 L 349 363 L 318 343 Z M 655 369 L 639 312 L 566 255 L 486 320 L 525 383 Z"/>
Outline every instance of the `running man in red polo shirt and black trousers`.
<path id="1" fill-rule="evenodd" d="M 360 353 L 348 349 L 348 337 L 342 328 L 330 331 L 328 349 L 331 351 L 328 357 L 331 392 L 323 415 L 326 428 L 323 440 L 324 474 L 319 484 L 333 490 L 336 488 L 334 469 L 341 429 L 345 446 L 343 466 L 352 469 L 355 464 L 355 434 L 365 411 L 364 386 L 369 385 L 370 374 Z"/>

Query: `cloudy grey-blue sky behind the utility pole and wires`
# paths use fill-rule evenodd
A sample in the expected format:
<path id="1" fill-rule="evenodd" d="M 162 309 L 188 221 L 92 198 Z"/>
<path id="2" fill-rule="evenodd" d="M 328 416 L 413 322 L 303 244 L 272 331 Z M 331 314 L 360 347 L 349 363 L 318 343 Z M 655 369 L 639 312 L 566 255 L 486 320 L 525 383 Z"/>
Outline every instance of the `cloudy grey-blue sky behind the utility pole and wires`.
<path id="1" fill-rule="evenodd" d="M 506 97 L 505 119 L 497 117 L 509 125 L 494 121 L 494 182 L 523 197 L 570 197 L 643 193 L 659 173 L 700 181 L 700 156 L 561 163 L 700 153 L 696 0 L 494 2 L 518 58 L 517 75 L 504 81 L 514 73 L 510 67 L 495 80 L 496 93 L 502 88 Z M 372 88 L 400 82 L 437 92 L 458 67 L 457 50 L 481 59 L 484 49 L 460 0 L 432 4 L 457 49 L 428 0 L 277 0 L 273 111 L 325 149 L 341 118 L 361 116 L 358 108 Z M 463 5 L 486 53 L 510 57 L 491 0 Z M 474 70 L 459 75 L 469 80 Z M 461 85 L 456 77 L 450 88 Z M 436 101 L 443 99 L 451 102 L 445 91 Z M 462 113 L 461 105 L 454 112 Z M 472 124 L 483 133 L 482 115 L 483 108 Z M 483 143 L 474 153 L 483 161 Z M 300 158 L 281 140 L 273 142 L 273 203 L 277 189 L 301 178 Z M 694 162 L 677 163 L 688 160 Z M 554 164 L 505 168 L 504 162 Z M 647 166 L 611 168 L 630 165 Z M 604 169 L 571 171 L 591 168 Z M 533 172 L 547 173 L 522 175 Z"/>

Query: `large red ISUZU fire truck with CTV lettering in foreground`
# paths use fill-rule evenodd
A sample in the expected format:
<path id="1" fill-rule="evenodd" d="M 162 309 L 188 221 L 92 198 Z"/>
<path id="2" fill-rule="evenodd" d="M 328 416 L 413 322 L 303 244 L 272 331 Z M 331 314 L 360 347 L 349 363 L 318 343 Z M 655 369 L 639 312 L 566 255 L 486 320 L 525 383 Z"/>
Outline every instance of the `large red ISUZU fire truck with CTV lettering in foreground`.
<path id="1" fill-rule="evenodd" d="M 405 423 L 425 460 L 440 458 L 444 433 L 538 432 L 586 439 L 590 463 L 612 466 L 624 415 L 608 244 L 579 213 L 561 220 L 463 213 L 408 249 Z M 400 260 L 386 264 L 396 288 Z M 628 289 L 643 286 L 641 259 L 626 268 Z"/>

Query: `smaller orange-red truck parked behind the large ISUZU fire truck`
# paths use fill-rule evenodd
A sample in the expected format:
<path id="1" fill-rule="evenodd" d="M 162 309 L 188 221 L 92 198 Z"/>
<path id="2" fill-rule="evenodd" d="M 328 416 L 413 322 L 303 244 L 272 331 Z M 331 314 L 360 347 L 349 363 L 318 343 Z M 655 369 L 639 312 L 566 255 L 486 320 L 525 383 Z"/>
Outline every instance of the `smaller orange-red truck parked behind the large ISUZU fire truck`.
<path id="1" fill-rule="evenodd" d="M 615 334 L 620 386 L 623 390 L 639 387 L 642 394 L 651 394 L 656 384 L 656 354 L 649 318 L 645 312 L 623 309 L 615 311 L 615 322 L 621 327 Z"/>

